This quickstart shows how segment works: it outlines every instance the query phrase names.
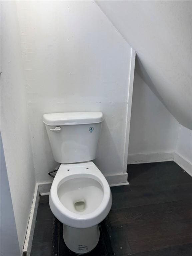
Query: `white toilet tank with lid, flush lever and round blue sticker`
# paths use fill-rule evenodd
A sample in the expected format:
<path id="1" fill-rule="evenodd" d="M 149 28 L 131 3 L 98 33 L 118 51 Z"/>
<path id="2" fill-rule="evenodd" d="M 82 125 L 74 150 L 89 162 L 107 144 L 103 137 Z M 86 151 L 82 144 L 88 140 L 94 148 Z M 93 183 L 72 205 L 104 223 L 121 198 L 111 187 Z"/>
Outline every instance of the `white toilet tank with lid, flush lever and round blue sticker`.
<path id="1" fill-rule="evenodd" d="M 44 114 L 55 161 L 77 163 L 95 159 L 102 121 L 102 112 Z"/>

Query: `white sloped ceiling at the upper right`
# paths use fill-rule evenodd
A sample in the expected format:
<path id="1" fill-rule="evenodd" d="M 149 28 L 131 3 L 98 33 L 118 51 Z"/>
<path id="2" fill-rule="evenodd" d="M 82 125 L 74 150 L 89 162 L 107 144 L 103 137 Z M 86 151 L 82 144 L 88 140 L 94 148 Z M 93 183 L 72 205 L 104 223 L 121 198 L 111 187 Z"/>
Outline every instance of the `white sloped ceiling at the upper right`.
<path id="1" fill-rule="evenodd" d="M 191 1 L 96 1 L 137 53 L 136 70 L 192 129 Z"/>

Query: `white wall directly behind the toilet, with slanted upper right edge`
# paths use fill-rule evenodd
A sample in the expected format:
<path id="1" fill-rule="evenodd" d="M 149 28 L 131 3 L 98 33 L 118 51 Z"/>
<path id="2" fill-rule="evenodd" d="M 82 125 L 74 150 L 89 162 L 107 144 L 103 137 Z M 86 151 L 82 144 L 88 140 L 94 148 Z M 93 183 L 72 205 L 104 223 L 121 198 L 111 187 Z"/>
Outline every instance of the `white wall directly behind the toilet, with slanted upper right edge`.
<path id="1" fill-rule="evenodd" d="M 126 171 L 127 42 L 92 1 L 20 1 L 18 14 L 37 182 L 58 165 L 44 113 L 102 111 L 95 163 L 104 175 Z"/>

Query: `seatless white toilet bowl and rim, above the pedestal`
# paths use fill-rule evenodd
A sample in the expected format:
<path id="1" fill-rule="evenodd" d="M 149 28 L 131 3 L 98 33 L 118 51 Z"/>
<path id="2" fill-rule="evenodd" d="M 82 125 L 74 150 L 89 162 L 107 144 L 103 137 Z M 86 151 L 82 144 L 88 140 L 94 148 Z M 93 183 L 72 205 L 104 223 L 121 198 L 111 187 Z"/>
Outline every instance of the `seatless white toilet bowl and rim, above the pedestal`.
<path id="1" fill-rule="evenodd" d="M 109 184 L 92 161 L 60 165 L 49 195 L 58 220 L 74 228 L 92 227 L 107 216 L 111 204 Z"/>

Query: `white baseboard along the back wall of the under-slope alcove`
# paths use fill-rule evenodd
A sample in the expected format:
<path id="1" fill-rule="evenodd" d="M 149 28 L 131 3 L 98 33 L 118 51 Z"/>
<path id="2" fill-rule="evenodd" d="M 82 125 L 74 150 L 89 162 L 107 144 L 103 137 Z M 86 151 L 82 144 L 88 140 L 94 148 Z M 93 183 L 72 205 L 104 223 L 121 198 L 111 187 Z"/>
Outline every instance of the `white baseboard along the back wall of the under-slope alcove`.
<path id="1" fill-rule="evenodd" d="M 127 164 L 173 161 L 174 152 L 128 155 Z"/>

